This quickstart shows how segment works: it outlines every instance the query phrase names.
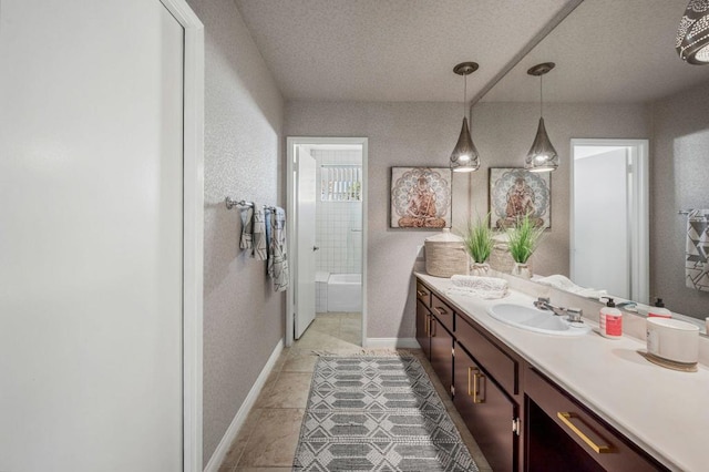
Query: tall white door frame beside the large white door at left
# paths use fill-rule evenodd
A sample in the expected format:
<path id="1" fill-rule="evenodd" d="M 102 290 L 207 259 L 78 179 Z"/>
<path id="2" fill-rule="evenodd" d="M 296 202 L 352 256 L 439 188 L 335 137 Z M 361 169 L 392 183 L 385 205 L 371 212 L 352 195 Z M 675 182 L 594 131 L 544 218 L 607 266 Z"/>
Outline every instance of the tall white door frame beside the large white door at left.
<path id="1" fill-rule="evenodd" d="M 183 471 L 202 471 L 204 25 L 185 0 L 160 0 L 185 29 L 183 164 Z"/>

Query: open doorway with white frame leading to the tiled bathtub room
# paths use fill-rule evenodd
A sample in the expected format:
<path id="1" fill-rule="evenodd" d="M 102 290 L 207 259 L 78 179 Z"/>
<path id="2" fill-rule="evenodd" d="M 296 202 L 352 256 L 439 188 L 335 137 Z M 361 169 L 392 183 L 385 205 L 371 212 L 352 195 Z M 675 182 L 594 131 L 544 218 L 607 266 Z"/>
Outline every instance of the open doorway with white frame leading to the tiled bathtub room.
<path id="1" fill-rule="evenodd" d="M 316 316 L 367 319 L 367 138 L 288 137 L 291 284 L 286 346 Z M 357 321 L 354 321 L 357 322 Z"/>

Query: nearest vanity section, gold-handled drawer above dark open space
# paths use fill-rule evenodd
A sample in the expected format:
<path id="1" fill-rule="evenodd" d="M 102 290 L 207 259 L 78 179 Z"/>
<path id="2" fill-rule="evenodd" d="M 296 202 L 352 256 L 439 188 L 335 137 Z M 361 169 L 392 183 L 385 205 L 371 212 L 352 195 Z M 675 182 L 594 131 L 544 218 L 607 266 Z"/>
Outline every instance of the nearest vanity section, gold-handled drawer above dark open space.
<path id="1" fill-rule="evenodd" d="M 525 471 L 668 470 L 532 367 L 524 392 Z"/>

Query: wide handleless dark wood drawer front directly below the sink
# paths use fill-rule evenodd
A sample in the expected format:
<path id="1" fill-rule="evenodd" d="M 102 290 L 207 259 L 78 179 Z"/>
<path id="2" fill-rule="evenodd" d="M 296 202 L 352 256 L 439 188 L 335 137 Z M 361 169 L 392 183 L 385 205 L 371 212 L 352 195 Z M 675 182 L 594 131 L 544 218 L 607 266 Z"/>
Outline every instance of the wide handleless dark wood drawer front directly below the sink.
<path id="1" fill-rule="evenodd" d="M 490 341 L 464 316 L 458 316 L 455 338 L 510 394 L 520 393 L 516 358 Z"/>

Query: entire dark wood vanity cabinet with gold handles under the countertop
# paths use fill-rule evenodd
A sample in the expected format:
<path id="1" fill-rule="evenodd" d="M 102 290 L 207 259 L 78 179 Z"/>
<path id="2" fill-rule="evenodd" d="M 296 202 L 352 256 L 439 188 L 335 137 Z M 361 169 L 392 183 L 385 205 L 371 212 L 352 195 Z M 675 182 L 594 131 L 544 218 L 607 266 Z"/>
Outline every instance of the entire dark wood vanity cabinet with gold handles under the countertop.
<path id="1" fill-rule="evenodd" d="M 667 471 L 417 280 L 417 339 L 494 471 Z"/>

